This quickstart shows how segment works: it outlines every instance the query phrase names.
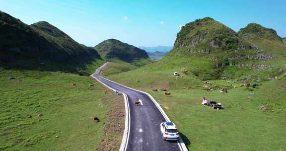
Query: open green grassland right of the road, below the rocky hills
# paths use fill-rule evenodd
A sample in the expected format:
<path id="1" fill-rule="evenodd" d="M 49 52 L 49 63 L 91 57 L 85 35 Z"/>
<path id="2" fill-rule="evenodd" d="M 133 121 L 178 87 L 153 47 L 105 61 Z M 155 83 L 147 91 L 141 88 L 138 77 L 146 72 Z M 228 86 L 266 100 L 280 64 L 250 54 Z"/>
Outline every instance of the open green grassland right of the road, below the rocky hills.
<path id="1" fill-rule="evenodd" d="M 204 57 L 203 54 L 201 56 Z M 172 62 L 163 59 L 142 68 L 115 75 L 112 73 L 105 75 L 105 70 L 109 69 L 108 65 L 103 75 L 150 93 L 161 104 L 170 119 L 176 123 L 190 151 L 279 151 L 286 149 L 284 143 L 286 139 L 284 135 L 286 133 L 284 128 L 286 124 L 284 100 L 286 75 L 284 73 L 227 67 L 223 74 L 236 73 L 230 79 L 232 83 L 210 80 L 220 88 L 228 87 L 229 92 L 222 94 L 216 89 L 207 92 L 203 85 L 210 85 L 204 83 L 196 74 L 182 73 L 182 67 L 189 71 L 211 68 L 208 61 L 202 62 L 195 57 L 187 59 L 181 56 L 171 59 Z M 174 71 L 183 76 L 175 78 Z M 272 80 L 265 79 L 268 76 L 278 77 Z M 261 80 L 256 81 L 257 77 Z M 236 79 L 238 82 L 234 83 L 233 80 Z M 257 83 L 259 86 L 254 89 L 239 87 L 240 84 L 246 82 Z M 151 90 L 152 88 L 160 90 L 162 87 L 167 88 L 171 96 L 165 96 L 164 91 L 153 92 Z M 255 95 L 248 98 L 252 92 Z M 203 96 L 222 103 L 225 109 L 217 111 L 210 107 L 203 107 L 201 104 Z M 269 109 L 258 110 L 261 105 Z"/>

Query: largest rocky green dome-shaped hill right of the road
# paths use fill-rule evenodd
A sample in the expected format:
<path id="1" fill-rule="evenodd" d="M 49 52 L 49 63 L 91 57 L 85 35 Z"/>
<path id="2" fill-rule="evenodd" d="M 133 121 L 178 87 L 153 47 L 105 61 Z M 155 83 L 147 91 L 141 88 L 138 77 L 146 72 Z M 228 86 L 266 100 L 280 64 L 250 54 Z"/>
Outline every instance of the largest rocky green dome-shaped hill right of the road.
<path id="1" fill-rule="evenodd" d="M 182 27 L 172 49 L 159 63 L 187 68 L 199 78 L 218 79 L 230 65 L 255 56 L 253 46 L 235 31 L 206 17 Z"/>

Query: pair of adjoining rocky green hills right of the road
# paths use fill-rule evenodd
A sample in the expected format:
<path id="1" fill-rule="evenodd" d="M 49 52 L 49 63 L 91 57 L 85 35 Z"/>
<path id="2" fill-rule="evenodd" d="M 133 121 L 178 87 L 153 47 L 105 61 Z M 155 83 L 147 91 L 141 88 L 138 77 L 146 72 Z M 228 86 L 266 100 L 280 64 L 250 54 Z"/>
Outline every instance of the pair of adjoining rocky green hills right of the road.
<path id="1" fill-rule="evenodd" d="M 257 41 L 256 37 L 262 40 Z M 235 77 L 242 73 L 235 70 L 243 71 L 243 68 L 248 68 L 245 71 L 274 69 L 272 62 L 265 60 L 281 64 L 279 60 L 285 56 L 285 45 L 281 41 L 273 29 L 250 24 L 237 33 L 206 17 L 183 26 L 174 48 L 159 63 L 186 67 L 201 79 L 219 79 L 222 75 Z"/>

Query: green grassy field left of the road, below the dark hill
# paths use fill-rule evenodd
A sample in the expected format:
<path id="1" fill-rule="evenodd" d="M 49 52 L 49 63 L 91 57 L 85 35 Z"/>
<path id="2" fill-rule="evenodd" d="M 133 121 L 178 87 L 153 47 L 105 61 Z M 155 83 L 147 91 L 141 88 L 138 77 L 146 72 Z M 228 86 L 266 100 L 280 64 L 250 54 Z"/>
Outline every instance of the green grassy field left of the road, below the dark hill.
<path id="1" fill-rule="evenodd" d="M 95 150 L 108 112 L 104 90 L 87 76 L 1 68 L 0 150 Z M 101 121 L 94 124 L 94 116 Z"/>

